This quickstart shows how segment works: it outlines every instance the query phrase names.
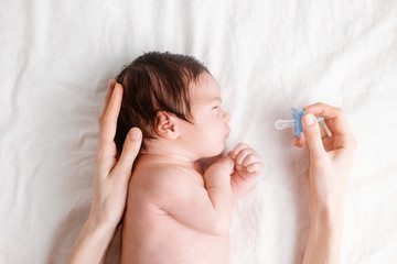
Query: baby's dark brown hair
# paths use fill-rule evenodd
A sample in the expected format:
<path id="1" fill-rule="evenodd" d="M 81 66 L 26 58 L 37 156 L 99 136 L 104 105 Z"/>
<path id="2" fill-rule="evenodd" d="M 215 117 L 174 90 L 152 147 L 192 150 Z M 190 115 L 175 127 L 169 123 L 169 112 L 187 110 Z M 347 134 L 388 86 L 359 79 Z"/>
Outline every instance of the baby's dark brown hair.
<path id="1" fill-rule="evenodd" d="M 197 81 L 203 73 L 210 74 L 196 58 L 169 52 L 144 53 L 125 66 L 116 77 L 124 89 L 115 135 L 117 157 L 132 127 L 141 129 L 143 140 L 155 139 L 159 111 L 191 122 L 189 85 Z M 144 141 L 141 147 L 147 148 Z"/>

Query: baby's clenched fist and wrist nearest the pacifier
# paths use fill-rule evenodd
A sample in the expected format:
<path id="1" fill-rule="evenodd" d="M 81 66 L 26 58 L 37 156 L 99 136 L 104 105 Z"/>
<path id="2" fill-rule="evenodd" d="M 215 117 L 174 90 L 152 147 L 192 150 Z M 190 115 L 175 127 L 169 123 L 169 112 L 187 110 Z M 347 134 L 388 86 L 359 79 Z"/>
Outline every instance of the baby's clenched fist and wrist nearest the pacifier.
<path id="1" fill-rule="evenodd" d="M 235 205 L 254 186 L 255 179 L 264 169 L 264 163 L 259 154 L 246 143 L 238 143 L 227 156 L 235 163 L 235 170 L 230 178 Z"/>

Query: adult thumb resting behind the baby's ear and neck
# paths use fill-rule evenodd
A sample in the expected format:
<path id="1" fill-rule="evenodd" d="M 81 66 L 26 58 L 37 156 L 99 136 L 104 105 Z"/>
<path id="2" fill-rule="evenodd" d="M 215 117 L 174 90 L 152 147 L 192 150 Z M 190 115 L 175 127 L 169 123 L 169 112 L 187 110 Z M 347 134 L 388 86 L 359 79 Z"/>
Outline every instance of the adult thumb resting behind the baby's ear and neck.
<path id="1" fill-rule="evenodd" d="M 116 165 L 117 170 L 131 174 L 132 164 L 139 153 L 142 143 L 142 132 L 138 128 L 132 128 L 126 136 L 126 141 L 122 145 L 120 158 Z M 115 168 L 116 168 L 115 167 Z"/>

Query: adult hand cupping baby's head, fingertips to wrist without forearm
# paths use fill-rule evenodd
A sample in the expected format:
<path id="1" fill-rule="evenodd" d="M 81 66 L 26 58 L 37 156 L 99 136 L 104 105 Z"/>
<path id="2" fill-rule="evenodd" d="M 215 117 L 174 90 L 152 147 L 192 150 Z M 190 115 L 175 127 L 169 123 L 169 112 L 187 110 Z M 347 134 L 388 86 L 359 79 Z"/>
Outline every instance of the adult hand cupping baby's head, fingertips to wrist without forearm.
<path id="1" fill-rule="evenodd" d="M 121 107 L 122 87 L 109 80 L 108 91 L 98 118 L 99 138 L 95 155 L 95 185 L 89 220 L 115 229 L 125 211 L 131 168 L 142 142 L 142 133 L 132 128 L 127 134 L 119 161 L 114 141 Z"/>

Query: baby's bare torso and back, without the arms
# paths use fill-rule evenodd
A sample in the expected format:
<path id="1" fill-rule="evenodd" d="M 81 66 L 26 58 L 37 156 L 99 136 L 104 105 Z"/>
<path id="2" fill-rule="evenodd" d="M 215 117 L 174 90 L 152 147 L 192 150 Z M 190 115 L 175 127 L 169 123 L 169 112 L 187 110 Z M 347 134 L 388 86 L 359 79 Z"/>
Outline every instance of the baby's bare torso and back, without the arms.
<path id="1" fill-rule="evenodd" d="M 147 168 L 136 166 L 129 184 L 120 263 L 229 263 L 228 234 L 216 237 L 190 229 L 151 201 L 140 175 L 140 169 Z M 202 176 L 196 174 L 192 180 L 204 188 Z"/>

